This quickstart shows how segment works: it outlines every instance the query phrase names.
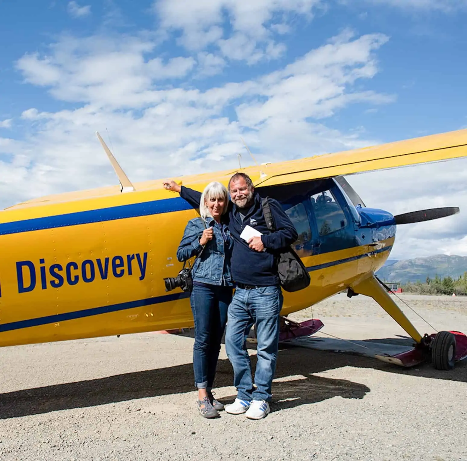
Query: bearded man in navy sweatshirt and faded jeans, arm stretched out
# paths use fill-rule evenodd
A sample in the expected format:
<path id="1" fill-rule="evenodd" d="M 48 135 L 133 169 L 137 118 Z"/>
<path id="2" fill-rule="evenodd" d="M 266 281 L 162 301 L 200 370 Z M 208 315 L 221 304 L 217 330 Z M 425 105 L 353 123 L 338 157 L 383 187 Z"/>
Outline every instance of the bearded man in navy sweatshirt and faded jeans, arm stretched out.
<path id="1" fill-rule="evenodd" d="M 180 192 L 194 208 L 199 207 L 201 193 L 165 182 L 166 189 Z M 272 397 L 271 384 L 276 371 L 279 344 L 279 313 L 283 296 L 275 255 L 297 240 L 297 231 L 283 211 L 281 205 L 269 199 L 269 206 L 276 230 L 270 233 L 263 216 L 260 195 L 255 192 L 253 182 L 244 173 L 236 173 L 228 184 L 229 230 L 233 237 L 231 259 L 232 277 L 237 284 L 232 303 L 228 308 L 226 328 L 226 351 L 233 367 L 233 384 L 237 398 L 226 405 L 226 412 L 241 414 L 247 418 L 261 419 L 269 412 Z M 240 237 L 246 226 L 261 232 L 248 242 Z M 257 338 L 257 364 L 253 387 L 251 363 L 245 338 L 255 324 Z"/>

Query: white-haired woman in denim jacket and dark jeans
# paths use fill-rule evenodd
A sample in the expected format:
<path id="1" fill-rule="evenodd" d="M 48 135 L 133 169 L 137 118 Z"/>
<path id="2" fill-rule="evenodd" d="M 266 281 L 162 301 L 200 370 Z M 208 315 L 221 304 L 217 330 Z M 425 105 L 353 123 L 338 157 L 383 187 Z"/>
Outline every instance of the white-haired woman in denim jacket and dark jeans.
<path id="1" fill-rule="evenodd" d="M 173 181 L 165 182 L 164 187 L 180 191 L 180 186 Z M 233 240 L 222 220 L 227 205 L 225 186 L 219 182 L 209 183 L 199 203 L 201 218 L 188 222 L 177 250 L 179 261 L 196 256 L 191 271 L 193 289 L 190 296 L 195 322 L 193 369 L 198 408 L 205 418 L 215 418 L 219 416 L 218 410 L 224 409 L 212 395 L 212 384 L 233 292 L 230 273 Z"/>

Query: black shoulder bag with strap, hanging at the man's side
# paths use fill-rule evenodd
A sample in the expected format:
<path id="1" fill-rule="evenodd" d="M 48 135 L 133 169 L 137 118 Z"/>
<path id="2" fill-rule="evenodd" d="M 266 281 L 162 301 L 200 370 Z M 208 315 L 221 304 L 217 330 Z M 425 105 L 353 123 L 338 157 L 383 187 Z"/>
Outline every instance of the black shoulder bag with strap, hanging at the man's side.
<path id="1" fill-rule="evenodd" d="M 269 207 L 268 197 L 262 198 L 262 212 L 266 225 L 271 232 L 276 230 L 271 208 Z M 283 248 L 276 257 L 277 275 L 281 286 L 285 291 L 293 292 L 303 290 L 310 285 L 310 274 L 306 270 L 302 260 L 291 247 Z"/>

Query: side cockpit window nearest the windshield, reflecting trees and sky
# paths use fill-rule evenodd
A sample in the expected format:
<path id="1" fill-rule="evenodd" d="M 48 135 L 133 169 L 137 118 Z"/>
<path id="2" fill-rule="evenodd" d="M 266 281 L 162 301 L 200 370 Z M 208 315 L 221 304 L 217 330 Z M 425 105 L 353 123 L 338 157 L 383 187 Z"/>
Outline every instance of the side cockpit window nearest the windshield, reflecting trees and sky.
<path id="1" fill-rule="evenodd" d="M 331 190 L 325 190 L 310 197 L 315 212 L 318 234 L 331 234 L 347 226 L 347 218 Z"/>

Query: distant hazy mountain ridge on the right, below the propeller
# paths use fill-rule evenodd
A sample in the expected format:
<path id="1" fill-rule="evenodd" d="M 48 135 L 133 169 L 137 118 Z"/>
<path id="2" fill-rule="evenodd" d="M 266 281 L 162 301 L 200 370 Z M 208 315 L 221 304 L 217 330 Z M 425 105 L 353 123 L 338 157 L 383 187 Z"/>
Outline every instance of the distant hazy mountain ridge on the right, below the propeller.
<path id="1" fill-rule="evenodd" d="M 467 271 L 466 256 L 448 256 L 439 254 L 428 258 L 404 259 L 392 264 L 385 264 L 376 272 L 378 278 L 386 282 L 425 282 L 427 277 L 433 279 L 439 277 L 459 278 Z"/>

